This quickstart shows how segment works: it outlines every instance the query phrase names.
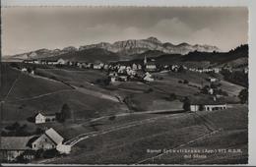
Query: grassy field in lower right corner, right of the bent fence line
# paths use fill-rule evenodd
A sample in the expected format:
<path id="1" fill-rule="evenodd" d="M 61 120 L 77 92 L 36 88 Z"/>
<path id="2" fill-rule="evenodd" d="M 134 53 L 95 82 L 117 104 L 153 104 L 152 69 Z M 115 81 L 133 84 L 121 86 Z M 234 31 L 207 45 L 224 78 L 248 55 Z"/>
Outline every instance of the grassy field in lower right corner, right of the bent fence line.
<path id="1" fill-rule="evenodd" d="M 215 111 L 211 114 L 198 113 L 202 117 L 211 120 L 220 133 L 206 139 L 199 139 L 186 145 L 186 149 L 240 149 L 241 152 L 207 153 L 207 158 L 184 158 L 188 153 L 172 153 L 154 159 L 155 163 L 181 163 L 181 164 L 245 164 L 248 161 L 248 108 L 236 106 L 224 111 Z M 203 154 L 203 153 L 201 153 Z M 150 163 L 152 161 L 148 161 Z"/>

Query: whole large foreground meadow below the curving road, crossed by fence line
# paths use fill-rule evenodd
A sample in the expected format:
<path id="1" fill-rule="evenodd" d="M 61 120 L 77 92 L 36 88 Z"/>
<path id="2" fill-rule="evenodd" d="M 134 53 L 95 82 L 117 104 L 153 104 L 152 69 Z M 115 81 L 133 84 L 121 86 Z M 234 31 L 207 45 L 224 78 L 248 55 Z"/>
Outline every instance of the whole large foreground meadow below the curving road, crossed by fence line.
<path id="1" fill-rule="evenodd" d="M 133 164 L 157 155 L 147 152 L 147 149 L 171 149 L 184 143 L 188 144 L 180 148 L 239 148 L 242 153 L 209 154 L 207 159 L 192 160 L 184 158 L 182 153 L 165 154 L 145 163 L 246 163 L 248 143 L 246 111 L 246 107 L 240 106 L 235 109 L 198 113 L 201 115 L 198 118 L 204 117 L 212 122 L 217 130 L 223 129 L 207 138 L 201 138 L 211 133 L 206 126 L 209 123 L 205 122 L 205 119 L 198 121 L 193 113 L 177 114 L 149 122 L 147 126 L 135 126 L 85 139 L 73 148 L 70 155 L 56 159 L 53 163 Z M 194 139 L 196 139 L 194 142 L 189 142 Z M 222 160 L 221 157 L 224 156 L 229 161 Z"/>

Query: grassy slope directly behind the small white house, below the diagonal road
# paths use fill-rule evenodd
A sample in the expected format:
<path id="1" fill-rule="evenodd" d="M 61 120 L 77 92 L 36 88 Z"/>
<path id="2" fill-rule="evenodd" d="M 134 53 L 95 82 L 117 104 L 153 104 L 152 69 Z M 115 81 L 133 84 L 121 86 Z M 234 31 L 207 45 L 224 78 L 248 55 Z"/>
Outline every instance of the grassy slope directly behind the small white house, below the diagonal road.
<path id="1" fill-rule="evenodd" d="M 100 115 L 125 112 L 124 104 L 84 94 L 76 90 L 64 91 L 4 105 L 4 120 L 23 120 L 39 110 L 47 113 L 59 112 L 67 103 L 73 111 L 74 119 L 90 119 Z M 100 105 L 99 105 L 100 104 Z M 14 115 L 16 113 L 16 115 Z"/>

